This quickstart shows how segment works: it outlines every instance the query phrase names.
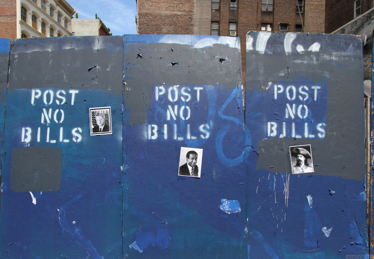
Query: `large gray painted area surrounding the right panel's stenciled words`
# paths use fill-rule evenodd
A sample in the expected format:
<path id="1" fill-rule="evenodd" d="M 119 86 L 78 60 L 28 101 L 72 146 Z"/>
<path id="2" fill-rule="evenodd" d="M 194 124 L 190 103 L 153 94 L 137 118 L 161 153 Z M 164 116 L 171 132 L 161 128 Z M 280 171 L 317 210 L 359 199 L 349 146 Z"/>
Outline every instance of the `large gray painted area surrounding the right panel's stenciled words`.
<path id="1" fill-rule="evenodd" d="M 308 34 L 297 34 L 286 46 L 284 41 L 278 40 L 279 37 L 284 35 L 270 36 L 265 44 L 264 54 L 247 50 L 246 90 L 248 92 L 254 89 L 259 92 L 272 91 L 272 88 L 268 88 L 269 82 L 277 84 L 279 81 L 286 81 L 292 85 L 298 78 L 307 79 L 316 85 L 327 83 L 325 138 L 323 140 L 286 138 L 260 140 L 257 168 L 270 172 L 291 173 L 288 147 L 310 144 L 313 163 L 319 164 L 315 167 L 315 174 L 364 180 L 364 87 L 361 40 L 354 35 L 313 34 L 313 37 L 310 37 Z M 300 53 L 297 51 L 300 46 L 307 50 L 315 42 L 321 45 L 320 51 Z M 285 53 L 286 48 L 291 52 Z M 271 107 L 281 114 L 279 120 L 283 119 L 285 110 L 285 103 L 281 105 Z M 280 133 L 277 136 L 279 135 Z M 260 148 L 261 146 L 266 148 Z M 276 158 L 278 155 L 279 158 Z M 272 164 L 269 165 L 269 162 Z"/>

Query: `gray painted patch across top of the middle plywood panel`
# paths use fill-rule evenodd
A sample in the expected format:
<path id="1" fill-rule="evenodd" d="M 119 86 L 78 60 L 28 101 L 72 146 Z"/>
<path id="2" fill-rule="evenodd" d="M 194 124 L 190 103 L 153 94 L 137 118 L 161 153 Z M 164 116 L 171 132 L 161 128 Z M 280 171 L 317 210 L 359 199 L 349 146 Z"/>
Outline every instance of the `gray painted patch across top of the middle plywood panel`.
<path id="1" fill-rule="evenodd" d="M 191 38 L 188 35 L 184 36 Z M 126 85 L 123 89 L 123 99 L 131 111 L 128 124 L 144 124 L 147 120 L 153 85 L 189 83 L 221 86 L 224 89 L 242 84 L 242 67 L 237 62 L 240 60 L 239 38 L 236 39 L 238 48 L 224 44 L 194 48 L 193 45 L 175 43 L 143 44 L 134 41 L 134 44 L 129 44 L 132 37 L 125 35 L 125 44 L 128 45 L 125 45 L 124 53 Z M 144 42 L 148 41 L 149 38 L 144 38 Z M 140 69 L 145 71 L 142 78 L 138 77 Z M 167 82 L 165 78 L 168 79 Z M 140 106 L 140 103 L 145 105 Z"/>

